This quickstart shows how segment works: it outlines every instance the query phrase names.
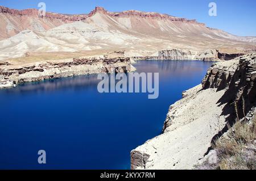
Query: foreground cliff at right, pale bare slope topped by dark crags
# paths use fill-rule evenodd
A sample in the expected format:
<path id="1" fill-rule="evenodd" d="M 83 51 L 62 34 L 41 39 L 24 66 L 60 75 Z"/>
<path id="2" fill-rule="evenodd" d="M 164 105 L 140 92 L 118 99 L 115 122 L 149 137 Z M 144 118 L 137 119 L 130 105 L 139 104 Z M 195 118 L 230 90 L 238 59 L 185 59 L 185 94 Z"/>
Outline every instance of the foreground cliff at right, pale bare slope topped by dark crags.
<path id="1" fill-rule="evenodd" d="M 237 116 L 251 115 L 255 68 L 256 53 L 213 64 L 201 85 L 170 106 L 163 134 L 131 151 L 131 169 L 192 169 Z"/>

